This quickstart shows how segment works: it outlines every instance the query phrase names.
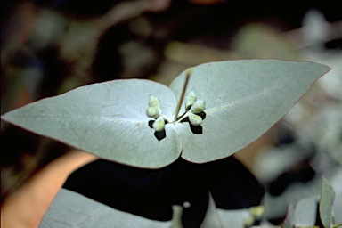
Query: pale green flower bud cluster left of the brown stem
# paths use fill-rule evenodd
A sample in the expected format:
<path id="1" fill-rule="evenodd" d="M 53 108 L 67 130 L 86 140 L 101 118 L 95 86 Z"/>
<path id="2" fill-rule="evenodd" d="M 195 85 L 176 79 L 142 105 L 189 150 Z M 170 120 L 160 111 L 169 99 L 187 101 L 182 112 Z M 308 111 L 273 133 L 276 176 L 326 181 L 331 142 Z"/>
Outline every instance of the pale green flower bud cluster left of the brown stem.
<path id="1" fill-rule="evenodd" d="M 153 95 L 149 98 L 149 108 L 146 110 L 146 115 L 149 118 L 156 118 L 153 122 L 153 129 L 157 132 L 163 131 L 165 128 L 165 119 L 162 117 L 159 99 Z"/>

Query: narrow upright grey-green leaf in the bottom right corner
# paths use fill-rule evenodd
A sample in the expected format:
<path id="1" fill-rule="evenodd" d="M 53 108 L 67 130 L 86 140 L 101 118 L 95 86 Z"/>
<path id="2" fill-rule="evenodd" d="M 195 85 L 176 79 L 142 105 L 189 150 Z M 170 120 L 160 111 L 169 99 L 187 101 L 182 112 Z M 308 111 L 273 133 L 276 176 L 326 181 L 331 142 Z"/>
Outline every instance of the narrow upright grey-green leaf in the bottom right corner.
<path id="1" fill-rule="evenodd" d="M 320 199 L 320 216 L 324 228 L 332 227 L 332 204 L 334 201 L 335 192 L 330 183 L 322 177 L 322 190 Z"/>

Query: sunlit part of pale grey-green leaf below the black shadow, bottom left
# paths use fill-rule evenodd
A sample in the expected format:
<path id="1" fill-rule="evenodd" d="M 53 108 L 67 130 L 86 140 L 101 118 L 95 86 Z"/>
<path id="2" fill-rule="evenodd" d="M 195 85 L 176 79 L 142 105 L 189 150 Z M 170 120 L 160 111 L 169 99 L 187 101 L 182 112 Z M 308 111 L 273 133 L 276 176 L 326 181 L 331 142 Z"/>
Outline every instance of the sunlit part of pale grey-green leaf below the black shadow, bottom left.
<path id="1" fill-rule="evenodd" d="M 167 228 L 171 222 L 149 220 L 115 210 L 76 192 L 61 189 L 43 217 L 40 228 Z"/>

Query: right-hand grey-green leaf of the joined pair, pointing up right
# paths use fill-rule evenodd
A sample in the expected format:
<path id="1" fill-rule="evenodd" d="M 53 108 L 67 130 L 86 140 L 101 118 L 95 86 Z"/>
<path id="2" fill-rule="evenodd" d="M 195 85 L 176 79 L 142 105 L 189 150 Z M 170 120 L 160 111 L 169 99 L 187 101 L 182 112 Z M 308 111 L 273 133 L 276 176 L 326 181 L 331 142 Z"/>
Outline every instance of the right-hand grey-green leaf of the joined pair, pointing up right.
<path id="1" fill-rule="evenodd" d="M 206 101 L 207 116 L 203 134 L 191 134 L 187 124 L 175 126 L 182 135 L 182 157 L 202 163 L 239 151 L 273 126 L 329 70 L 314 62 L 277 60 L 221 61 L 193 68 L 186 94 L 194 90 Z M 185 72 L 170 85 L 177 99 L 184 80 Z"/>

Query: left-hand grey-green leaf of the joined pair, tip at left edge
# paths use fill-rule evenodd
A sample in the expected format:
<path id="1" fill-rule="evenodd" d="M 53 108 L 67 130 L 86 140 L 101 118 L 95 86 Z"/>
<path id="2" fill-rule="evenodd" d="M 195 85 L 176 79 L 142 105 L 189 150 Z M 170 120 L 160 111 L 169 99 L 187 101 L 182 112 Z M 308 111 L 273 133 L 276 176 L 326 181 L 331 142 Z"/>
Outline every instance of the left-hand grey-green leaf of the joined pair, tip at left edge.
<path id="1" fill-rule="evenodd" d="M 156 140 L 146 116 L 149 96 L 157 95 L 172 115 L 175 94 L 165 85 L 129 79 L 87 85 L 13 110 L 2 118 L 104 159 L 136 167 L 164 167 L 177 159 L 181 144 L 174 131 Z M 171 126 L 167 125 L 167 128 Z"/>

